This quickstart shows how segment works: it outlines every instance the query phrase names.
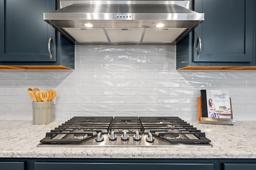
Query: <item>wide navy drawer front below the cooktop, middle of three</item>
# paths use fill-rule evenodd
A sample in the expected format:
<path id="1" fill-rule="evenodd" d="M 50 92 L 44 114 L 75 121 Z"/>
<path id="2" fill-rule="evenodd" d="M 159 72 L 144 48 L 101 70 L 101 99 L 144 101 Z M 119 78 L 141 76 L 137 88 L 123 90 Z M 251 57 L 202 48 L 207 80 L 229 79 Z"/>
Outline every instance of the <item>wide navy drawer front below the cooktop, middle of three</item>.
<path id="1" fill-rule="evenodd" d="M 182 163 L 59 163 L 59 162 L 36 162 L 35 170 L 214 170 L 214 164 L 182 164 Z"/>

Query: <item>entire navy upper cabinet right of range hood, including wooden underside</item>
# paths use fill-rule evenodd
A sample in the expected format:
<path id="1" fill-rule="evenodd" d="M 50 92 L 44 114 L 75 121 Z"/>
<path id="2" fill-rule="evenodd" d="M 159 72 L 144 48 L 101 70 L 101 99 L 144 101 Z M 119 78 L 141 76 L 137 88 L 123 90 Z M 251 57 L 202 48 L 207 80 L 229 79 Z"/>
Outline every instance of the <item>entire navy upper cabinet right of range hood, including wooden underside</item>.
<path id="1" fill-rule="evenodd" d="M 254 0 L 194 0 L 205 20 L 177 45 L 177 69 L 237 69 L 254 61 Z"/>

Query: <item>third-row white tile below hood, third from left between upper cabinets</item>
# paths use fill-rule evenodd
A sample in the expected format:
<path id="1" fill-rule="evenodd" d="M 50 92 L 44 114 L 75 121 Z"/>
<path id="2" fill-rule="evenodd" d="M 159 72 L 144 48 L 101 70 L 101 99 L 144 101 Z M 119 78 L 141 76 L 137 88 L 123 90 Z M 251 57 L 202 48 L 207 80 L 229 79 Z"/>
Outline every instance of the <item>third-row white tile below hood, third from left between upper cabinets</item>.
<path id="1" fill-rule="evenodd" d="M 169 70 L 169 64 L 167 63 L 142 63 L 137 64 L 137 70 L 148 70 L 148 71 L 167 71 Z"/>

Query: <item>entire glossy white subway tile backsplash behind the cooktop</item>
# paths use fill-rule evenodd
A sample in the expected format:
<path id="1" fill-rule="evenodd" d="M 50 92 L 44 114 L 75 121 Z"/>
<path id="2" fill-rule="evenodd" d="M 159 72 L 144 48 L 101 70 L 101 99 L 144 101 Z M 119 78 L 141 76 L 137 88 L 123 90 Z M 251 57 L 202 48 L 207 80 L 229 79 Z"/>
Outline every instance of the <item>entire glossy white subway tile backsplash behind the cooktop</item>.
<path id="1" fill-rule="evenodd" d="M 26 90 L 54 89 L 53 119 L 178 116 L 198 120 L 201 89 L 226 89 L 236 120 L 256 120 L 255 71 L 177 71 L 176 46 L 76 45 L 75 70 L 1 71 L 0 119 L 32 120 Z"/>

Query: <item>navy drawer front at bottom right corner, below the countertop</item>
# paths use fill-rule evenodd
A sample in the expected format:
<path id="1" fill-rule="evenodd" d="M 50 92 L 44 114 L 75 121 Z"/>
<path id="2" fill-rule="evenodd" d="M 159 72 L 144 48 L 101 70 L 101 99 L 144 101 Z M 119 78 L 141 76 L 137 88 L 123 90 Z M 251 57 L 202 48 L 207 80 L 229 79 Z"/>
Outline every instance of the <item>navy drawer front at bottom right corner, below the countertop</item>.
<path id="1" fill-rule="evenodd" d="M 256 163 L 223 163 L 223 170 L 256 170 Z"/>

